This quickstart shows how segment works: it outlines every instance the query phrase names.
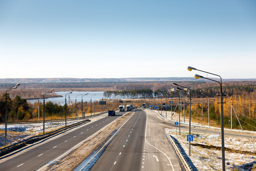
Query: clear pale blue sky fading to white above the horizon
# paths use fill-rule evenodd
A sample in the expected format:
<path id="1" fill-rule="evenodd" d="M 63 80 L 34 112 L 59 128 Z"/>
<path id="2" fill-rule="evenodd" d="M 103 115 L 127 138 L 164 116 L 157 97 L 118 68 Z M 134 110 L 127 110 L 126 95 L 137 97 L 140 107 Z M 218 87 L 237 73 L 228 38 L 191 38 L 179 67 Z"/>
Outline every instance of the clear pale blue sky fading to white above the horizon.
<path id="1" fill-rule="evenodd" d="M 0 0 L 0 59 L 0 78 L 256 78 L 256 1 Z"/>

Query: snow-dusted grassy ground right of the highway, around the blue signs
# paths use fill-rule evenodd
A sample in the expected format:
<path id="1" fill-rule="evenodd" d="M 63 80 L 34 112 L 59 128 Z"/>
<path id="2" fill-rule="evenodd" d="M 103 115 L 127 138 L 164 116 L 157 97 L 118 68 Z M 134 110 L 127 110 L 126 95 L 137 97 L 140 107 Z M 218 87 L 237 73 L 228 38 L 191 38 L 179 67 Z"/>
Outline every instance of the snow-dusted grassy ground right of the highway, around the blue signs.
<path id="1" fill-rule="evenodd" d="M 221 150 L 202 148 L 195 146 L 193 143 L 203 145 L 221 146 L 219 135 L 210 135 L 201 133 L 200 135 L 191 132 L 194 136 L 194 141 L 191 143 L 191 156 L 189 157 L 189 143 L 187 142 L 186 131 L 181 131 L 181 135 L 176 135 L 175 129 L 167 130 L 170 136 L 174 137 L 181 145 L 184 156 L 190 161 L 190 165 L 198 170 L 222 170 L 222 153 Z M 225 136 L 225 147 L 233 150 L 242 150 L 256 152 L 256 140 L 246 139 L 241 137 Z M 253 165 L 256 162 L 255 154 L 241 154 L 236 152 L 225 151 L 226 170 L 246 170 L 248 165 Z"/>

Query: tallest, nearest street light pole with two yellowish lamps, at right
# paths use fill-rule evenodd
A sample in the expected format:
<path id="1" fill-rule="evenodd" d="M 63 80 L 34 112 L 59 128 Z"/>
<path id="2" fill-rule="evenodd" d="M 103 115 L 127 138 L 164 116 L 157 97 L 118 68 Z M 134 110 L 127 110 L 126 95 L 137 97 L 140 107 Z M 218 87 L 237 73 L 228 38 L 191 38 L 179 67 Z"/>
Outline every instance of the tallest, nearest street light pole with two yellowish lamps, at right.
<path id="1" fill-rule="evenodd" d="M 192 71 L 192 70 L 197 70 L 196 68 L 193 67 L 187 67 L 187 70 Z M 226 164 L 225 164 L 225 141 L 224 141 L 224 117 L 223 117 L 223 92 L 222 92 L 222 78 L 221 76 L 217 75 L 217 74 L 213 74 L 210 72 L 206 72 L 206 71 L 202 71 L 202 70 L 197 70 L 197 71 L 201 71 L 201 72 L 205 72 L 207 74 L 211 74 L 211 75 L 215 75 L 218 76 L 221 79 L 221 82 L 218 82 L 217 80 L 213 80 L 213 79 L 209 79 L 209 78 L 204 78 L 201 75 L 195 75 L 196 79 L 199 78 L 204 78 L 207 80 L 211 80 L 213 82 L 217 82 L 220 84 L 221 86 L 221 150 L 222 150 L 222 170 L 225 171 L 226 170 Z"/>

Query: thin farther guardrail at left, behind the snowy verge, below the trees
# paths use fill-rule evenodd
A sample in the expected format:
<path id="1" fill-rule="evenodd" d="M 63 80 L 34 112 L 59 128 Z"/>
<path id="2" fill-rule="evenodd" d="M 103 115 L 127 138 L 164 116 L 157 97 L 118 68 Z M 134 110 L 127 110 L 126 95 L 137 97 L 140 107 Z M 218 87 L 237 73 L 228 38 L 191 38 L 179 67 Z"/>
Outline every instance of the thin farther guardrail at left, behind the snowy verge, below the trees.
<path id="1" fill-rule="evenodd" d="M 104 113 L 107 113 L 107 111 L 105 112 L 101 112 L 98 113 L 96 115 L 91 115 L 91 116 L 86 116 L 85 119 L 93 117 L 93 116 L 99 116 L 102 115 Z M 67 120 L 79 120 L 79 119 L 83 119 L 83 117 L 73 117 L 73 118 L 69 118 Z M 54 122 L 59 122 L 59 121 L 65 121 L 65 119 L 55 119 L 55 120 L 45 120 L 45 123 L 54 123 Z M 39 121 L 19 121 L 19 122 L 9 122 L 7 124 L 37 124 L 37 123 L 43 123 L 43 120 L 39 120 Z M 0 123 L 0 124 L 5 124 L 5 123 Z"/>

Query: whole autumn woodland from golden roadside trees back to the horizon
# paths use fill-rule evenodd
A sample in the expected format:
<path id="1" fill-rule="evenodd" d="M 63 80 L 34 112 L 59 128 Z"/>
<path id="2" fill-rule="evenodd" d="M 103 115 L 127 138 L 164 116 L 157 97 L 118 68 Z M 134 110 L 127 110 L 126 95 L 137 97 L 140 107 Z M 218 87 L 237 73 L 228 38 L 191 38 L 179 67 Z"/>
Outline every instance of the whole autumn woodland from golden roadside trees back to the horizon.
<path id="1" fill-rule="evenodd" d="M 210 97 L 210 119 L 220 123 L 219 96 L 220 86 L 215 82 L 177 80 L 172 82 L 70 82 L 70 83 L 21 83 L 17 89 L 8 92 L 8 110 L 10 113 L 9 121 L 29 120 L 37 117 L 38 104 L 28 104 L 26 99 L 42 97 L 41 93 L 54 88 L 55 91 L 103 91 L 107 99 L 133 99 L 133 98 L 163 98 L 177 97 L 169 93 L 168 89 L 175 88 L 173 83 L 191 89 L 193 105 L 191 112 L 193 118 L 201 118 L 203 112 L 207 114 L 207 97 Z M 0 83 L 0 121 L 5 118 L 5 91 L 14 86 L 13 83 Z M 256 81 L 225 81 L 222 82 L 224 97 L 224 116 L 225 127 L 229 127 L 230 107 L 233 103 L 235 115 L 239 117 L 241 125 L 245 129 L 256 130 Z M 205 92 L 202 95 L 202 92 Z M 187 100 L 187 93 L 177 91 Z M 54 93 L 53 93 L 54 95 Z M 49 95 L 52 96 L 52 95 Z M 231 101 L 232 100 L 232 101 Z M 205 101 L 205 103 L 202 103 Z M 175 103 L 177 103 L 174 100 Z M 169 101 L 166 101 L 170 105 Z M 39 104 L 40 108 L 42 104 Z M 86 105 L 86 103 L 85 103 Z M 158 104 L 159 105 L 159 104 Z M 49 108 L 48 108 L 49 107 Z M 79 107 L 81 108 L 81 107 Z M 111 108 L 111 107 L 110 107 Z M 64 107 L 58 104 L 47 103 L 47 116 L 63 116 Z M 90 105 L 85 107 L 86 111 L 91 112 Z M 99 111 L 101 109 L 99 108 Z M 188 105 L 186 104 L 185 115 L 188 115 Z M 42 112 L 42 109 L 41 109 Z M 42 113 L 40 113 L 41 116 Z M 205 115 L 204 114 L 204 115 Z M 234 115 L 234 113 L 233 113 Z M 234 128 L 239 129 L 236 117 L 233 117 Z"/>

